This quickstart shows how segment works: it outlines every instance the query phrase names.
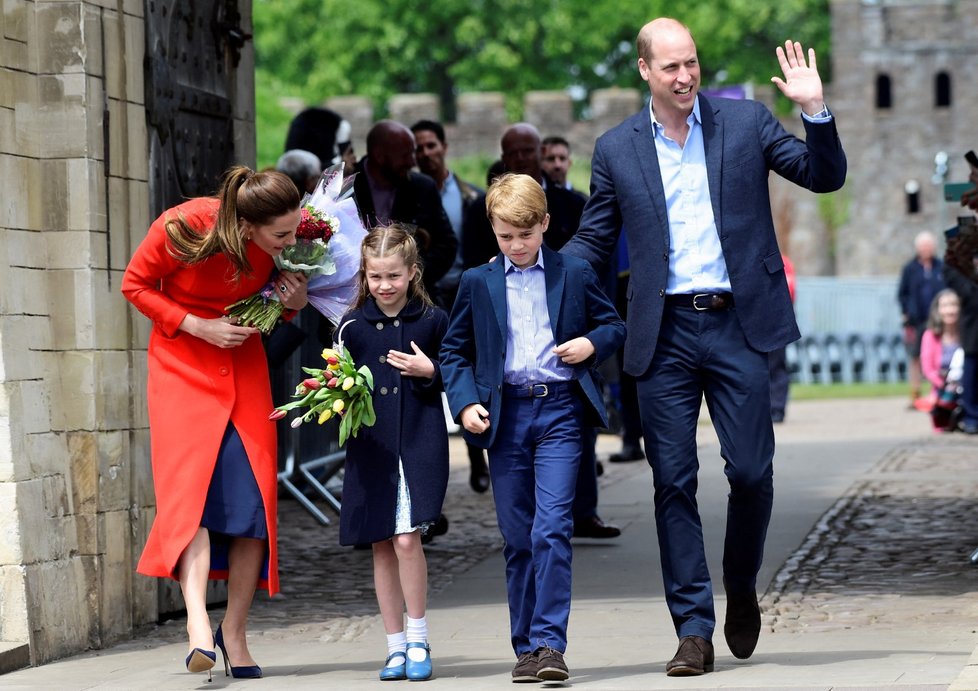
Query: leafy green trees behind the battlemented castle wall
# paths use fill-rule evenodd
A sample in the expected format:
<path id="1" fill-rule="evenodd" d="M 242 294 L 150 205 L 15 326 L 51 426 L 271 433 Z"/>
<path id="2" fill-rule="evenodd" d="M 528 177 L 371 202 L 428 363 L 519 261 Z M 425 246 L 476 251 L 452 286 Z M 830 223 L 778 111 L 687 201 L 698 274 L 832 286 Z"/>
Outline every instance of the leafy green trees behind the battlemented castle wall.
<path id="1" fill-rule="evenodd" d="M 432 92 L 450 121 L 459 92 L 502 91 L 518 118 L 529 90 L 569 89 L 583 103 L 593 89 L 641 86 L 635 36 L 674 9 L 665 0 L 255 0 L 259 98 L 360 94 L 383 113 L 392 94 Z M 787 38 L 814 47 L 828 76 L 828 0 L 713 0 L 679 18 L 707 85 L 767 83 Z"/>

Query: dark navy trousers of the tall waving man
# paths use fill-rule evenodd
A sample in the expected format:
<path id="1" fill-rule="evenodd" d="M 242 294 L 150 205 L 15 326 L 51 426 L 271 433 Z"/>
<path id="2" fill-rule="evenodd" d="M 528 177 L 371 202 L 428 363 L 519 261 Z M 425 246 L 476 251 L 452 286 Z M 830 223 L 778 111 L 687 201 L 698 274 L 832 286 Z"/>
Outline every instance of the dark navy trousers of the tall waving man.
<path id="1" fill-rule="evenodd" d="M 637 383 L 666 604 L 680 637 L 712 640 L 716 615 L 696 504 L 696 423 L 705 396 L 730 484 L 723 577 L 728 593 L 751 592 L 774 495 L 767 355 L 747 344 L 734 309 L 667 305 L 652 364 Z"/>

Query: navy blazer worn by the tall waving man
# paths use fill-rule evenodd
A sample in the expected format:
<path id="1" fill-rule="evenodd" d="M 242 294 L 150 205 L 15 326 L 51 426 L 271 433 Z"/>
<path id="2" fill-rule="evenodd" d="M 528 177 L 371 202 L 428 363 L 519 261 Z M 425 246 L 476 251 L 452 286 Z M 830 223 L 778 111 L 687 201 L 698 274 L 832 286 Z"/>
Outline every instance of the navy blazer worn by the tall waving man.
<path id="1" fill-rule="evenodd" d="M 831 192 L 845 182 L 845 153 L 834 119 L 805 121 L 802 141 L 756 101 L 698 98 L 710 199 L 736 314 L 750 346 L 769 352 L 800 334 L 774 234 L 768 174 Z M 598 139 L 591 196 L 580 229 L 562 251 L 601 266 L 623 225 L 632 268 L 624 365 L 641 376 L 655 352 L 669 275 L 669 220 L 648 108 Z"/>

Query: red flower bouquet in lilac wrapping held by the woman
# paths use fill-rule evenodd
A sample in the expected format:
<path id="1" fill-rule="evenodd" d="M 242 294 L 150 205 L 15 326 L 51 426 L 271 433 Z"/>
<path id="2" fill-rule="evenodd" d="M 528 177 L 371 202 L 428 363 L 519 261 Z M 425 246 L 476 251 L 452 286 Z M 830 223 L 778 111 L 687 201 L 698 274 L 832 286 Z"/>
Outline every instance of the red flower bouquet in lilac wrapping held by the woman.
<path id="1" fill-rule="evenodd" d="M 367 233 L 352 193 L 353 177 L 343 178 L 343 163 L 327 168 L 315 192 L 302 201 L 295 244 L 275 257 L 280 271 L 309 278 L 309 303 L 334 324 L 356 298 L 360 242 Z M 270 333 L 284 310 L 275 292 L 277 275 L 255 295 L 228 305 L 228 316 Z"/>

